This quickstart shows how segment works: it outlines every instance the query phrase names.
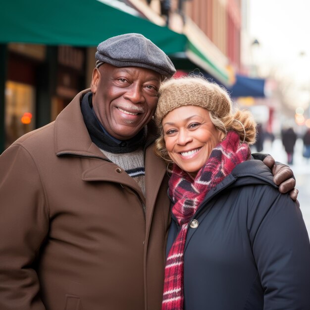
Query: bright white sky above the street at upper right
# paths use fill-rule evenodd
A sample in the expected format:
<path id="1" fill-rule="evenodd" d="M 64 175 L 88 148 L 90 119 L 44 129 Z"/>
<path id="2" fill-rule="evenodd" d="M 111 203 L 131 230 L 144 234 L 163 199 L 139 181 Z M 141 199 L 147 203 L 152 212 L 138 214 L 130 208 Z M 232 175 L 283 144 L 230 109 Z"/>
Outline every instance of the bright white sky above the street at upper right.
<path id="1" fill-rule="evenodd" d="M 263 61 L 310 80 L 310 0 L 250 0 L 249 28 Z"/>

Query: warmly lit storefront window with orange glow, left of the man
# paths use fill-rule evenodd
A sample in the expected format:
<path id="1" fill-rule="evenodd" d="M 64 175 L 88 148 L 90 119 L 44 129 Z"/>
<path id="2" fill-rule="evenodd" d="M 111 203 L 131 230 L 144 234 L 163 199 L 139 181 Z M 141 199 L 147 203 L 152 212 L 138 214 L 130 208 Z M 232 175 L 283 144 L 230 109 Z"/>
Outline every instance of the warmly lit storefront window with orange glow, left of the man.
<path id="1" fill-rule="evenodd" d="M 7 81 L 5 83 L 5 147 L 35 129 L 35 88 Z"/>

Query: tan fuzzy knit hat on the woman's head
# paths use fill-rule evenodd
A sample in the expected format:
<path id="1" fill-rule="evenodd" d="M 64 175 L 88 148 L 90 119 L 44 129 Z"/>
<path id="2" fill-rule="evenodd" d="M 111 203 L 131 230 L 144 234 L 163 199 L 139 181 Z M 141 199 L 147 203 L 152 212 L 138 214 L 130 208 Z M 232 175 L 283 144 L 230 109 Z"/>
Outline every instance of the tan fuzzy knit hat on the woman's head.
<path id="1" fill-rule="evenodd" d="M 172 110 L 183 105 L 206 108 L 219 119 L 227 116 L 232 107 L 227 91 L 199 76 L 181 77 L 163 82 L 155 111 L 157 126 Z"/>

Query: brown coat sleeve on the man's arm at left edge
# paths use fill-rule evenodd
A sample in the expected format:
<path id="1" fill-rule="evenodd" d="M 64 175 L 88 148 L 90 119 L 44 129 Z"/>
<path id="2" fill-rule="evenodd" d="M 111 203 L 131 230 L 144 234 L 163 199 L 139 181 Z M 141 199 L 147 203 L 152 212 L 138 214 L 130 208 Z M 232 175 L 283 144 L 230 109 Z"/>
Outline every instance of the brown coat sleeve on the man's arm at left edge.
<path id="1" fill-rule="evenodd" d="M 34 160 L 10 147 L 0 156 L 0 309 L 45 310 L 34 264 L 48 218 Z"/>

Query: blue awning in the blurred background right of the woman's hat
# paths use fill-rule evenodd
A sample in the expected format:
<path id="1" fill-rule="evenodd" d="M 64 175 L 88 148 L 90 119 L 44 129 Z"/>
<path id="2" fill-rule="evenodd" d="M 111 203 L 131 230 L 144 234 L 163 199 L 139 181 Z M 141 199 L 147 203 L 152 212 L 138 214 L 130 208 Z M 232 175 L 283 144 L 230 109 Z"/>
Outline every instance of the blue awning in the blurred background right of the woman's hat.
<path id="1" fill-rule="evenodd" d="M 236 74 L 236 82 L 227 88 L 230 96 L 236 97 L 255 97 L 264 98 L 265 79 L 250 78 L 244 75 Z"/>

